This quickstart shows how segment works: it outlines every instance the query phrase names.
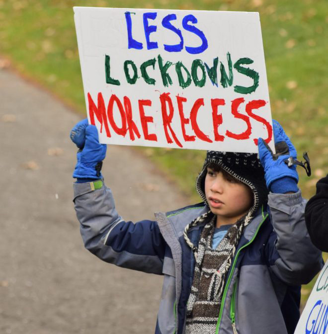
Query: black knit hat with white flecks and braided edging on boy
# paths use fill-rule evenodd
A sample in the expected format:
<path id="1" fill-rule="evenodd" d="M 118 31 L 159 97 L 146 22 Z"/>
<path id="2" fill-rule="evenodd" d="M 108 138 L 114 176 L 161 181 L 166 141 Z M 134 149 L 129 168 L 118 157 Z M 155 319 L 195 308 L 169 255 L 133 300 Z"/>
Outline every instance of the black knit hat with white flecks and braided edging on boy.
<path id="1" fill-rule="evenodd" d="M 203 169 L 196 180 L 197 192 L 206 204 L 208 203 L 205 196 L 205 176 L 210 164 L 218 165 L 228 174 L 249 186 L 254 196 L 250 215 L 267 201 L 268 189 L 265 184 L 264 169 L 256 153 L 207 151 Z"/>

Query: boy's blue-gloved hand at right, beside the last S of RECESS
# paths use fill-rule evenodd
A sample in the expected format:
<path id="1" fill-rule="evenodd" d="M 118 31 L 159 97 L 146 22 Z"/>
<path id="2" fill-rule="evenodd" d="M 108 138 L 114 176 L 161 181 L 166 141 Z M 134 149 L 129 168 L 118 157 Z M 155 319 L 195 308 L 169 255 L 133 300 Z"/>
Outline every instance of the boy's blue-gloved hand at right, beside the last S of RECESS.
<path id="1" fill-rule="evenodd" d="M 262 138 L 258 139 L 258 153 L 265 171 L 265 181 L 268 189 L 270 189 L 273 181 L 283 177 L 291 177 L 296 183 L 298 182 L 296 166 L 292 165 L 288 167 L 286 163 L 290 157 L 296 159 L 296 149 L 282 126 L 275 120 L 273 120 L 272 123 L 276 153 L 272 153 L 271 149 Z"/>

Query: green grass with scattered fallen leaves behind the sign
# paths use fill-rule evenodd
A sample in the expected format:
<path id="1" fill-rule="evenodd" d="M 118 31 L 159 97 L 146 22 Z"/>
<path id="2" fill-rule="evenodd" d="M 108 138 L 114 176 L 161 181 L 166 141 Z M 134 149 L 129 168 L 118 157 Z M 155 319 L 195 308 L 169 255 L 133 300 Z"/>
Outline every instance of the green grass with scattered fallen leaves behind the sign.
<path id="1" fill-rule="evenodd" d="M 72 7 L 121 7 L 122 3 L 0 0 L 0 53 L 22 74 L 85 114 Z M 303 151 L 309 152 L 313 176 L 306 177 L 303 169 L 299 174 L 304 196 L 311 197 L 316 181 L 328 172 L 327 1 L 126 0 L 124 7 L 259 11 L 272 115 L 291 137 L 299 157 Z M 199 200 L 194 181 L 203 163 L 203 151 L 142 150 L 190 199 Z"/>

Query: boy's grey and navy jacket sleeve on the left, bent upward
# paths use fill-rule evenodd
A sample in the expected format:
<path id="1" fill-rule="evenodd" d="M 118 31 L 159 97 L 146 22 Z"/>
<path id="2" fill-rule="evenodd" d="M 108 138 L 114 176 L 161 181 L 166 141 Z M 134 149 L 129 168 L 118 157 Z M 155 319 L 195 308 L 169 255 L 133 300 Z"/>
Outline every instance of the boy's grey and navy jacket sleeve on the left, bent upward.
<path id="1" fill-rule="evenodd" d="M 126 222 L 104 184 L 74 183 L 74 204 L 84 246 L 118 266 L 162 274 L 165 242 L 156 221 Z"/>

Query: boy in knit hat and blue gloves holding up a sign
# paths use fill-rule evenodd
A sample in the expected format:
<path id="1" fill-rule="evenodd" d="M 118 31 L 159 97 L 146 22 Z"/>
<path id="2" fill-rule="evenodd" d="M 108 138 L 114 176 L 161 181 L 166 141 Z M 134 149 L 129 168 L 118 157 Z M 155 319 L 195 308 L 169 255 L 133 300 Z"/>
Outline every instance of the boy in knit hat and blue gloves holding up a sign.
<path id="1" fill-rule="evenodd" d="M 209 151 L 196 181 L 204 202 L 133 224 L 103 185 L 97 130 L 86 120 L 73 129 L 83 148 L 73 176 L 84 245 L 104 261 L 164 275 L 157 334 L 294 332 L 300 285 L 322 259 L 306 232 L 296 168 L 284 162 L 296 151 L 277 122 L 274 138 L 276 155 L 259 139 L 260 160 Z"/>

